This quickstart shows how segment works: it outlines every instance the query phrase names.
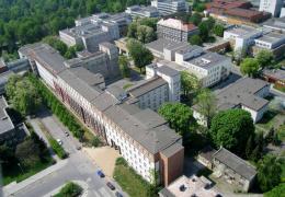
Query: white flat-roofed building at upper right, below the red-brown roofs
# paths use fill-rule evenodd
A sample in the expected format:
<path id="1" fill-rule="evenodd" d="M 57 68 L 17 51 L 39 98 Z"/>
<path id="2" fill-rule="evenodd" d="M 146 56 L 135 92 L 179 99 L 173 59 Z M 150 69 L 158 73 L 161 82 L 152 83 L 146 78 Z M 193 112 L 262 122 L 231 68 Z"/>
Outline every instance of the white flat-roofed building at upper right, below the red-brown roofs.
<path id="1" fill-rule="evenodd" d="M 248 50 L 254 39 L 263 34 L 262 30 L 251 26 L 238 26 L 224 32 L 224 39 L 229 40 L 236 51 Z"/>

